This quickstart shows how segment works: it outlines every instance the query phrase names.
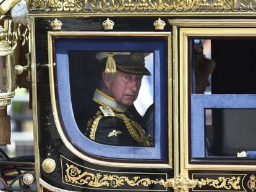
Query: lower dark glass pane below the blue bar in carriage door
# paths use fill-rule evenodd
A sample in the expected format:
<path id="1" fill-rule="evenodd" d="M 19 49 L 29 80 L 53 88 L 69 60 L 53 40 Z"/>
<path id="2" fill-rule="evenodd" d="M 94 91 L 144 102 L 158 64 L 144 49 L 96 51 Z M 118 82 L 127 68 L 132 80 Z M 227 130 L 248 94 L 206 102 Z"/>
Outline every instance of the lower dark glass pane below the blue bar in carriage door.
<path id="1" fill-rule="evenodd" d="M 206 156 L 255 151 L 256 109 L 205 109 Z"/>

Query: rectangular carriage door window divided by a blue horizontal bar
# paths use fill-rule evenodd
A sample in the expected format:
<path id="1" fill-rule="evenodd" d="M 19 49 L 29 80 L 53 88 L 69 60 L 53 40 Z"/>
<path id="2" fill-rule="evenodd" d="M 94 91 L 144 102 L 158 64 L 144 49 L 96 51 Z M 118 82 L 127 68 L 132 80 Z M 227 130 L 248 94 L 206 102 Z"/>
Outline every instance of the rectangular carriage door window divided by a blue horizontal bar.
<path id="1" fill-rule="evenodd" d="M 189 42 L 192 159 L 256 158 L 255 38 Z"/>

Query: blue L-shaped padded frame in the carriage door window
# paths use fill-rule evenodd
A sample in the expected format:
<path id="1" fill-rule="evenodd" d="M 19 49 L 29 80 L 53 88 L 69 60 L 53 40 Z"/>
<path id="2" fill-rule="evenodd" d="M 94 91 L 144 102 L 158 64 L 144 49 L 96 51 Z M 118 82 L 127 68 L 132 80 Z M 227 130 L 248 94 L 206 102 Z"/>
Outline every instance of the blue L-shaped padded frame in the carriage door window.
<path id="1" fill-rule="evenodd" d="M 253 109 L 255 94 L 191 94 L 192 157 L 205 157 L 205 109 Z"/>

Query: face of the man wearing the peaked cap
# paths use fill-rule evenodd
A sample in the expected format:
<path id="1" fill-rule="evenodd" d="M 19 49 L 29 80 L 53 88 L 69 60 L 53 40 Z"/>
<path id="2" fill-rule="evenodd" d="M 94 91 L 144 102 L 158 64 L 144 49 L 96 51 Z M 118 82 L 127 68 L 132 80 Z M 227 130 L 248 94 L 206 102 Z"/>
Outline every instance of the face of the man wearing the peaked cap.
<path id="1" fill-rule="evenodd" d="M 116 72 L 109 79 L 109 94 L 116 102 L 131 106 L 137 99 L 142 83 L 142 75 Z"/>

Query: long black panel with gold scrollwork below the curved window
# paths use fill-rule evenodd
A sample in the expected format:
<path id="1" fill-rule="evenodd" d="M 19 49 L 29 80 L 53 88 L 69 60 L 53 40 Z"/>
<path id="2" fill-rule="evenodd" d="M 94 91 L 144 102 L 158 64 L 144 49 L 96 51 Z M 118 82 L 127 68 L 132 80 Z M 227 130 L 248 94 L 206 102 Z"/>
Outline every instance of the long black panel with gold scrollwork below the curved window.
<path id="1" fill-rule="evenodd" d="M 124 191 L 167 191 L 166 173 L 108 172 L 76 164 L 61 156 L 62 181 L 77 188 Z"/>

